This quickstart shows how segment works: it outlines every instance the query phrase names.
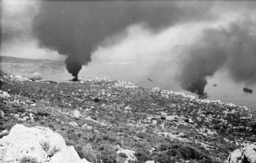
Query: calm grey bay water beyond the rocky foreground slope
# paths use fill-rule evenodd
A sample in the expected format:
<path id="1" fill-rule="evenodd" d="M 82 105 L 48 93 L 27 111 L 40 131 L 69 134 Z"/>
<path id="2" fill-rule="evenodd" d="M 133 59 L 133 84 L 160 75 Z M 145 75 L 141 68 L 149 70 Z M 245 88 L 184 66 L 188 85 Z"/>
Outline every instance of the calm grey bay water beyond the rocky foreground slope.
<path id="1" fill-rule="evenodd" d="M 161 67 L 162 66 L 162 67 Z M 147 64 L 135 63 L 91 63 L 83 67 L 79 73 L 79 79 L 93 77 L 105 77 L 115 80 L 126 80 L 143 87 L 159 87 L 172 91 L 183 91 L 185 94 L 195 95 L 183 90 L 175 79 L 175 73 L 172 67 L 165 65 L 149 66 Z M 60 74 L 39 75 L 43 80 L 67 81 L 72 79 L 71 74 L 67 71 Z M 29 77 L 29 76 L 27 76 Z M 149 81 L 147 78 L 153 80 Z M 217 84 L 217 86 L 213 86 Z M 205 91 L 208 93 L 207 99 L 221 100 L 222 102 L 231 102 L 236 105 L 246 106 L 249 109 L 256 110 L 256 86 L 250 88 L 254 92 L 246 93 L 243 91 L 243 84 L 235 84 L 230 78 L 222 75 L 215 75 L 208 78 L 208 84 Z M 196 96 L 197 97 L 197 96 Z"/>

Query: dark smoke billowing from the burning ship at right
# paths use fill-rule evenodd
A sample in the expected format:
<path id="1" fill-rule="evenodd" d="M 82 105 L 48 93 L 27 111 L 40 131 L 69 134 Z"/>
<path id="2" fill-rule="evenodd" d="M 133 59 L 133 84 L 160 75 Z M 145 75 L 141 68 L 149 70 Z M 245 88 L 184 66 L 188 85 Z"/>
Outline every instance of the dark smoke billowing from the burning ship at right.
<path id="1" fill-rule="evenodd" d="M 205 29 L 184 58 L 181 87 L 202 95 L 206 77 L 226 68 L 236 82 L 256 83 L 256 24 L 236 21 L 228 28 Z"/>

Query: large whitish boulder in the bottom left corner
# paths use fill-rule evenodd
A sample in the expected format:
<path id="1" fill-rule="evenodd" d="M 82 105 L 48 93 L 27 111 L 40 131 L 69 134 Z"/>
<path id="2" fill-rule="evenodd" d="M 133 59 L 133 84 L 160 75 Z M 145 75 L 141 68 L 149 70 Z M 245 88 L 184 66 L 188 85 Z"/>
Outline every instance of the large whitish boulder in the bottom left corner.
<path id="1" fill-rule="evenodd" d="M 16 124 L 0 139 L 0 162 L 89 163 L 80 159 L 73 146 L 67 146 L 60 134 L 45 127 Z"/>

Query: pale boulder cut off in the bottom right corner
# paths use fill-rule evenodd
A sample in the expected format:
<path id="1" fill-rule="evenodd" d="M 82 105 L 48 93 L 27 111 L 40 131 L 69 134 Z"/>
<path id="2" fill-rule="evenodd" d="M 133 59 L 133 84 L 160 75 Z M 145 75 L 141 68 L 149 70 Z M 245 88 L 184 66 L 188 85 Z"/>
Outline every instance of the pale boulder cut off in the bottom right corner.
<path id="1" fill-rule="evenodd" d="M 235 150 L 228 156 L 228 163 L 256 163 L 256 145 Z"/>

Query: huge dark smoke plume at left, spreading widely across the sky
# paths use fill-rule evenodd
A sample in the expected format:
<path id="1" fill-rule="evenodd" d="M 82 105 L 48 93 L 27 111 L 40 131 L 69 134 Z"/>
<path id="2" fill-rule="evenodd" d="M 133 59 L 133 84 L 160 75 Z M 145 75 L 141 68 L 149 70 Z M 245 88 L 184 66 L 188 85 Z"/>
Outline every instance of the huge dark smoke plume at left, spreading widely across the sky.
<path id="1" fill-rule="evenodd" d="M 40 46 L 67 55 L 66 68 L 77 77 L 99 45 L 119 43 L 127 26 L 144 24 L 153 32 L 187 21 L 213 20 L 211 2 L 55 1 L 41 2 L 33 31 Z M 107 41 L 104 41 L 106 37 Z M 104 42 L 103 42 L 104 41 Z"/>

